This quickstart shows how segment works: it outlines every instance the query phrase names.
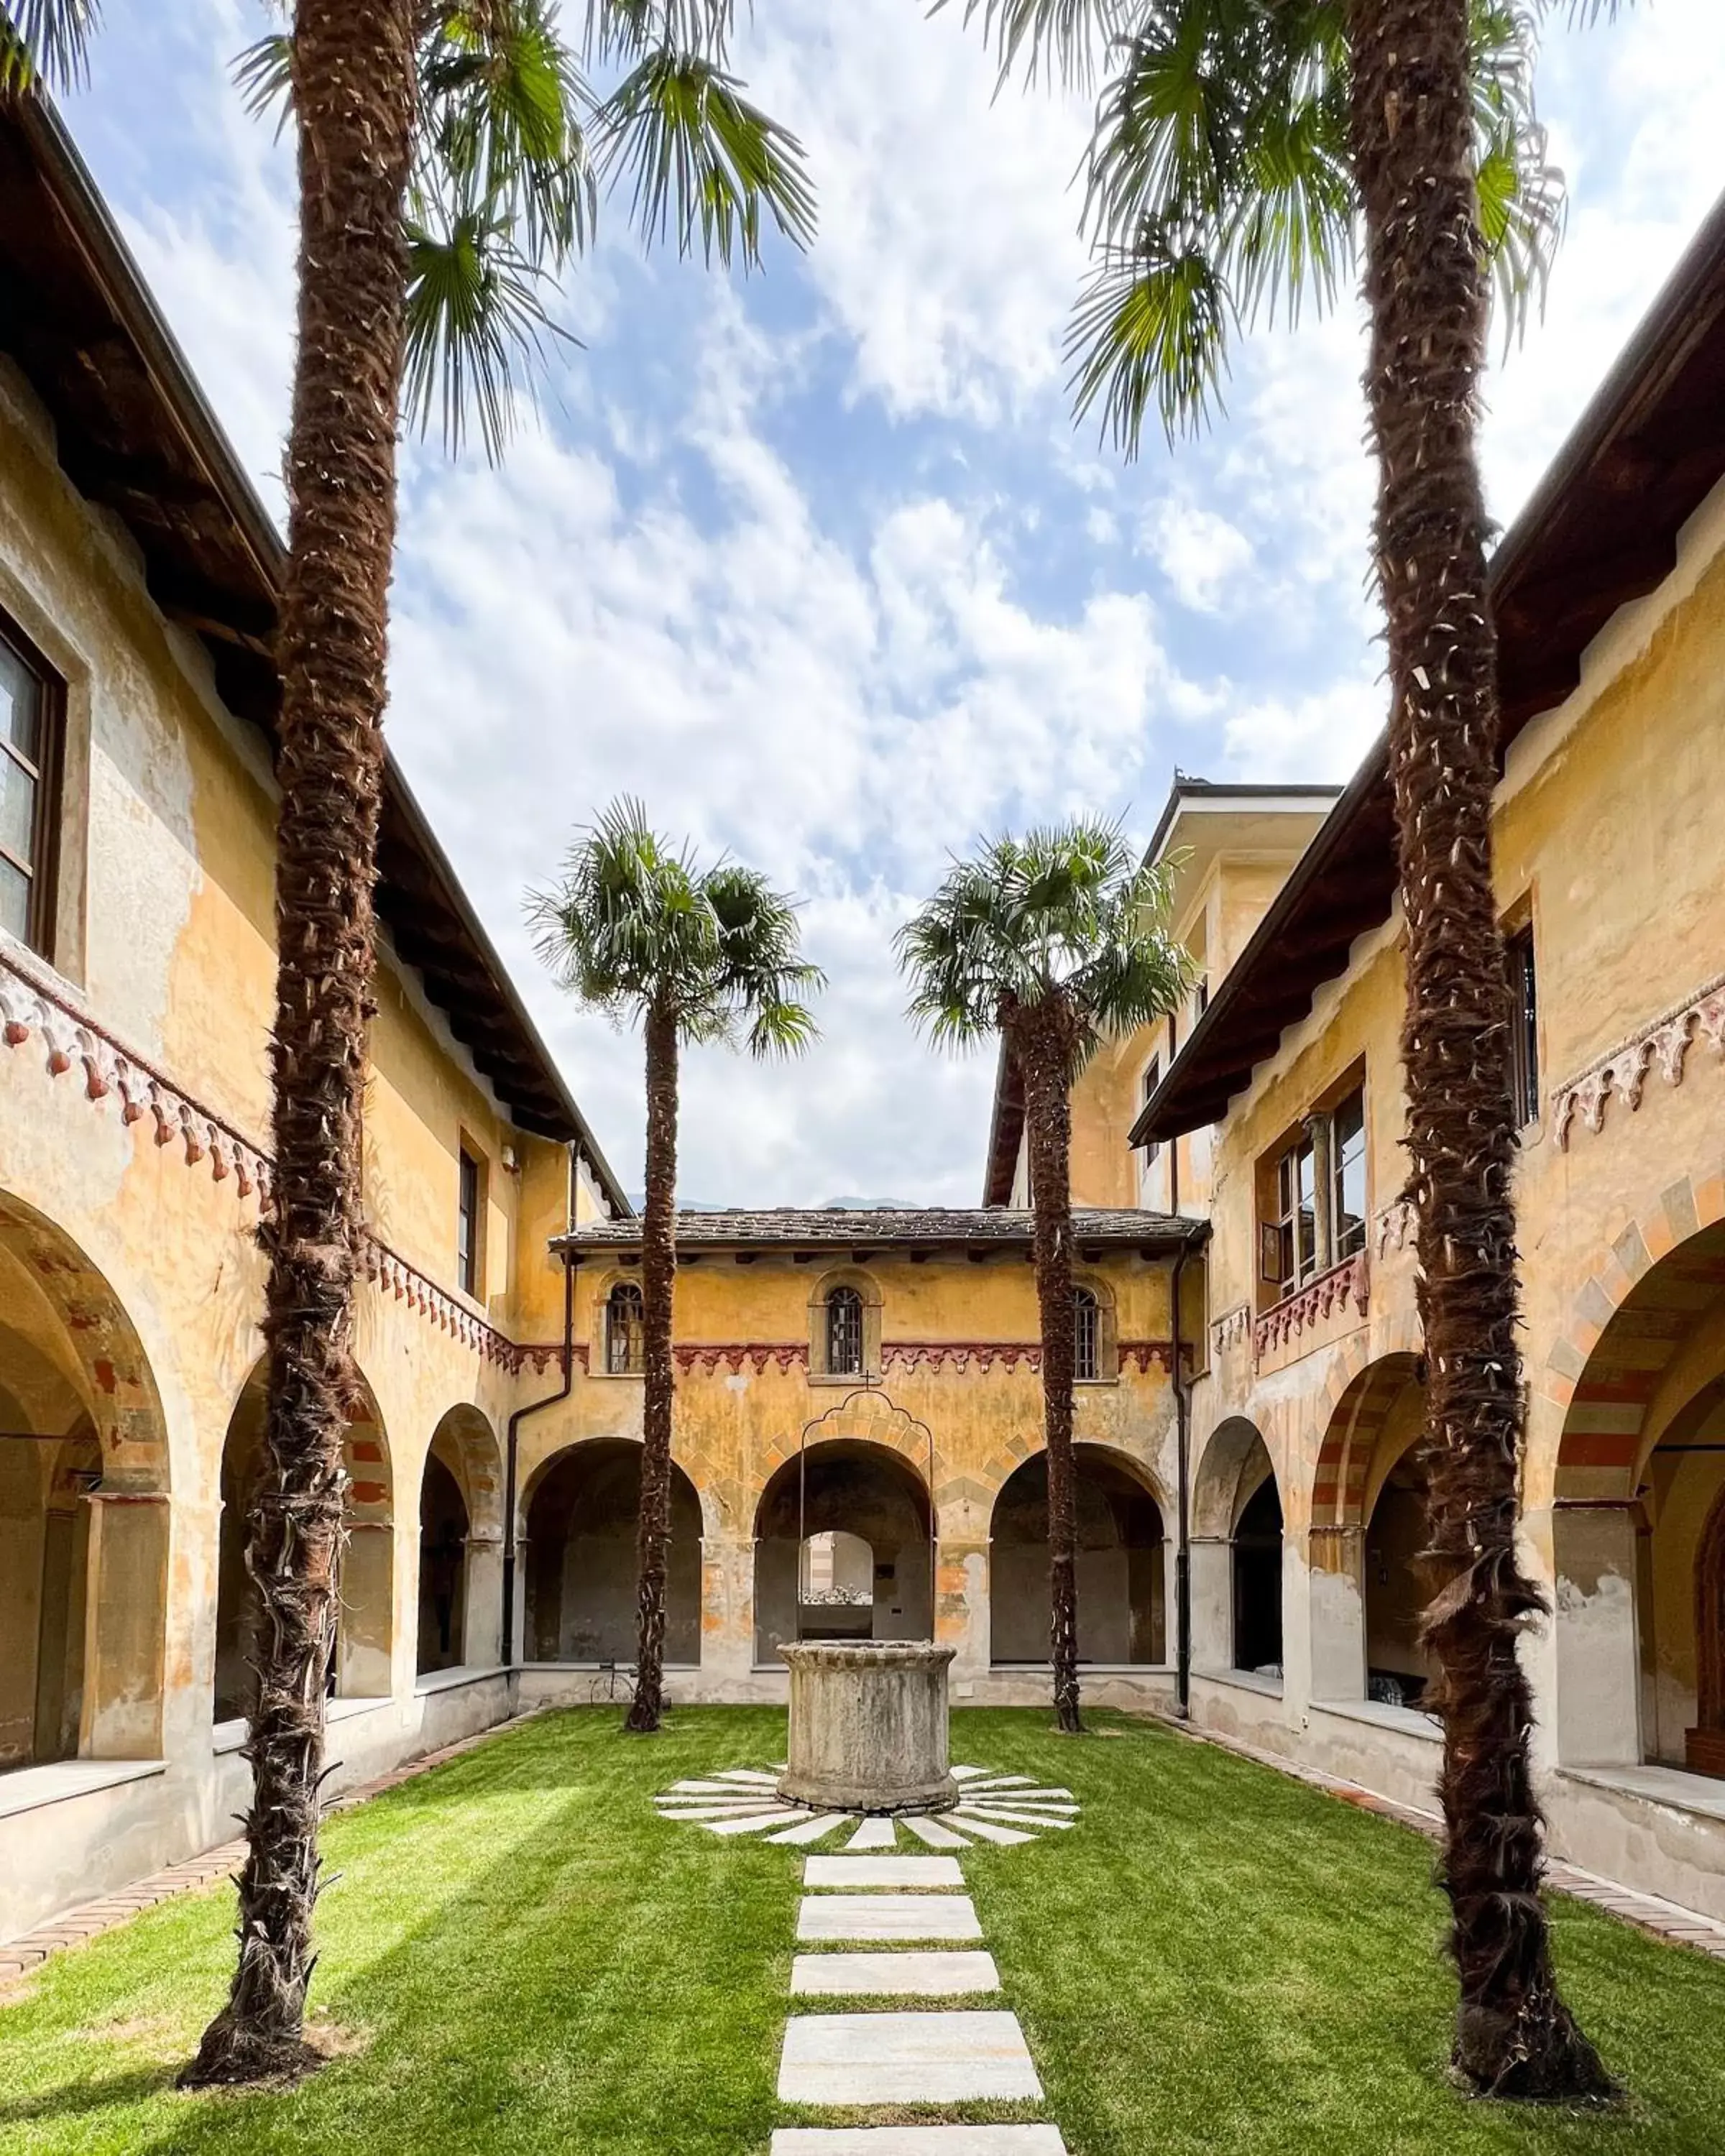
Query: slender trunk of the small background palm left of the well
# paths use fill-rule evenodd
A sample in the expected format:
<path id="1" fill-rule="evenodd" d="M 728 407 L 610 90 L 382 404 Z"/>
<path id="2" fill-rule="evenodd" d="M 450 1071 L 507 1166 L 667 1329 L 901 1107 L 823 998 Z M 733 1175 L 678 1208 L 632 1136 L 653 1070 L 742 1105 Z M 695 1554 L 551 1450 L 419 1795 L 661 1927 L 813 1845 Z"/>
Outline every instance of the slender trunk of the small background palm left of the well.
<path id="1" fill-rule="evenodd" d="M 636 1688 L 625 1727 L 640 1736 L 664 1714 L 664 1574 L 671 1544 L 671 1304 L 677 1289 L 677 1020 L 647 1013 L 647 1214 L 640 1222 L 645 1401 L 636 1533 Z"/>

